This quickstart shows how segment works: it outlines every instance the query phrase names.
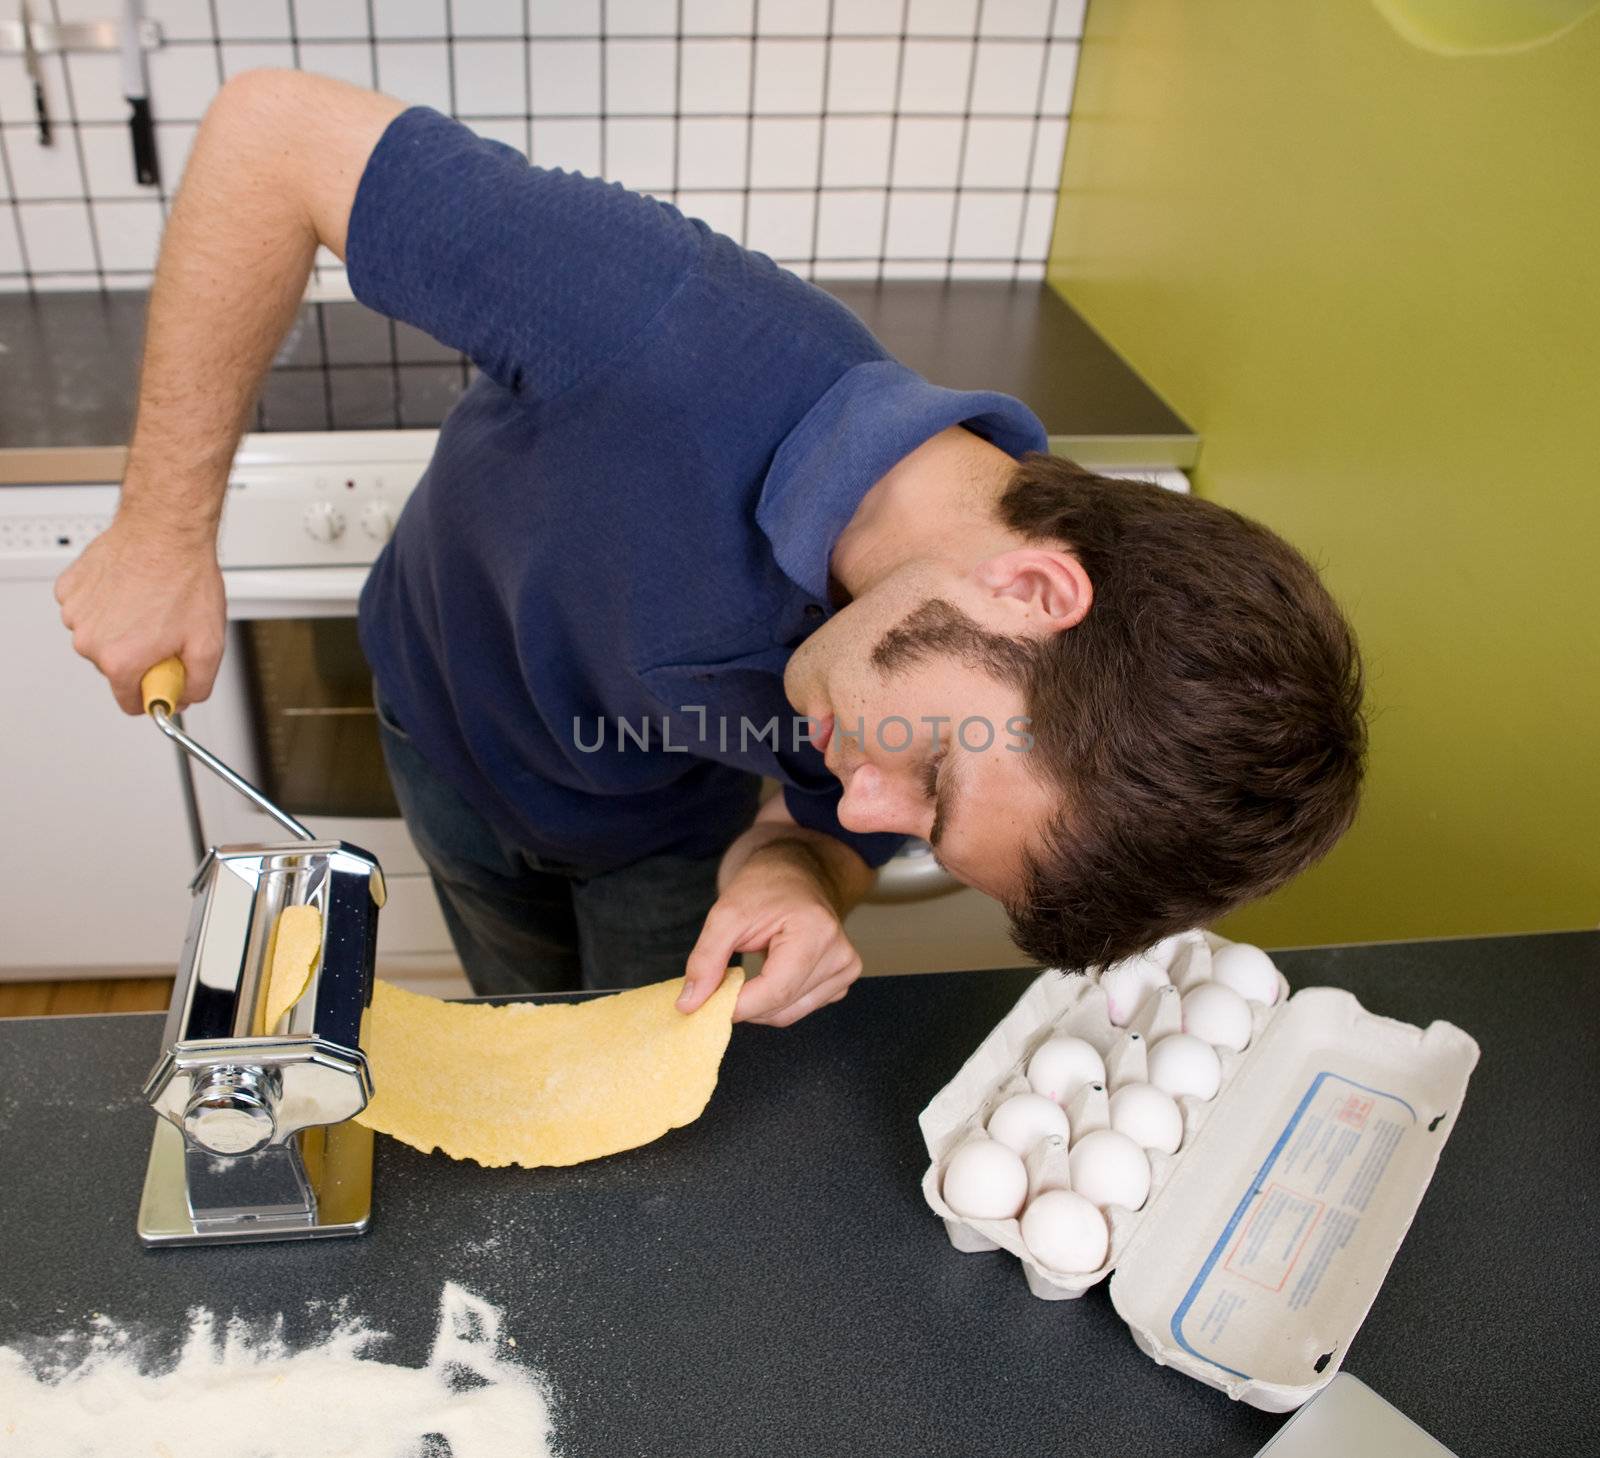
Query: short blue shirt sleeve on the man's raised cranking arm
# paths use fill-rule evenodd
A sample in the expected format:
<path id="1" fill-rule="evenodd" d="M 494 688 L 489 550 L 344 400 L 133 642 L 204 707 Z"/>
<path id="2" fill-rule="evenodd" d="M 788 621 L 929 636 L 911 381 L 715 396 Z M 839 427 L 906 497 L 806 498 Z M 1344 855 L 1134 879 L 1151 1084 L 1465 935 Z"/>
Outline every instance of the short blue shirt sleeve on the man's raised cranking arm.
<path id="1" fill-rule="evenodd" d="M 706 235 L 667 203 L 530 166 L 411 107 L 362 173 L 346 264 L 370 309 L 549 400 L 626 357 L 694 270 Z"/>

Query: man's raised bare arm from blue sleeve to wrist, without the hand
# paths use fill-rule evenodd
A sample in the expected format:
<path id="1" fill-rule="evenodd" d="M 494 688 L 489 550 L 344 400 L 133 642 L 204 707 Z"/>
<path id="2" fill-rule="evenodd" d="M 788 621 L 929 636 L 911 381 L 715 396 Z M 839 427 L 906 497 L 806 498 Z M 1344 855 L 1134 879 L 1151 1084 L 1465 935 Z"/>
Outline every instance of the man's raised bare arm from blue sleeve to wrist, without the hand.
<path id="1" fill-rule="evenodd" d="M 130 515 L 173 536 L 214 533 L 234 450 L 317 245 L 342 256 L 362 166 L 398 110 L 298 72 L 248 72 L 213 102 L 150 291 Z"/>

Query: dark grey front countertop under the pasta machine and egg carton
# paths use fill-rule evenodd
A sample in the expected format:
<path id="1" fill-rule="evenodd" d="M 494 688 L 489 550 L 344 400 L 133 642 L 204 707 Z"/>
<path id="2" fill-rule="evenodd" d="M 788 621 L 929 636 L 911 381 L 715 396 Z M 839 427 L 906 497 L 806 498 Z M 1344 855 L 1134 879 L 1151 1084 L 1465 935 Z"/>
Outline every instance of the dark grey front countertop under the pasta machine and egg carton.
<path id="1" fill-rule="evenodd" d="M 1462 1458 L 1590 1452 L 1600 933 L 1277 960 L 1483 1050 L 1346 1370 Z M 176 1349 L 194 1304 L 282 1311 L 294 1343 L 326 1330 L 309 1301 L 347 1300 L 421 1365 L 456 1280 L 549 1375 L 573 1458 L 1254 1453 L 1280 1420 L 1141 1356 L 1104 1285 L 1040 1301 L 922 1200 L 917 1114 L 1032 975 L 875 978 L 794 1029 L 738 1027 L 698 1124 L 590 1165 L 379 1140 L 368 1236 L 210 1250 L 133 1229 L 160 1018 L 0 1023 L 0 1344 L 106 1312 Z"/>

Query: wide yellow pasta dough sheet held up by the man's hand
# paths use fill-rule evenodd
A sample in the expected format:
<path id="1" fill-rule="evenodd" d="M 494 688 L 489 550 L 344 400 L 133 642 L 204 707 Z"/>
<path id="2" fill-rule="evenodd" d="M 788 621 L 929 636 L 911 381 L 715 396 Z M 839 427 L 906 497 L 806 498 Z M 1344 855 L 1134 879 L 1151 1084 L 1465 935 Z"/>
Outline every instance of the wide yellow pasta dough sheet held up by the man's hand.
<path id="1" fill-rule="evenodd" d="M 424 1154 L 576 1165 L 699 1119 L 717 1087 L 744 975 L 680 1013 L 682 979 L 584 1002 L 483 1007 L 373 987 L 358 1120 Z"/>

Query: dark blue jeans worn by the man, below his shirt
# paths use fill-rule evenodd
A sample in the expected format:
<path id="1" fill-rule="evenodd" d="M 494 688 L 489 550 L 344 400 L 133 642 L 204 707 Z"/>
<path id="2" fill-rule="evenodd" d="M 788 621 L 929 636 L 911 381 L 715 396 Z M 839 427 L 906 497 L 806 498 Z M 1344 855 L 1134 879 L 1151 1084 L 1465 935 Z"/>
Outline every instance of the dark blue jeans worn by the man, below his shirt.
<path id="1" fill-rule="evenodd" d="M 434 773 L 382 699 L 376 706 L 395 799 L 474 992 L 642 987 L 683 976 L 717 899 L 720 856 L 646 856 L 594 871 L 507 845 Z"/>

